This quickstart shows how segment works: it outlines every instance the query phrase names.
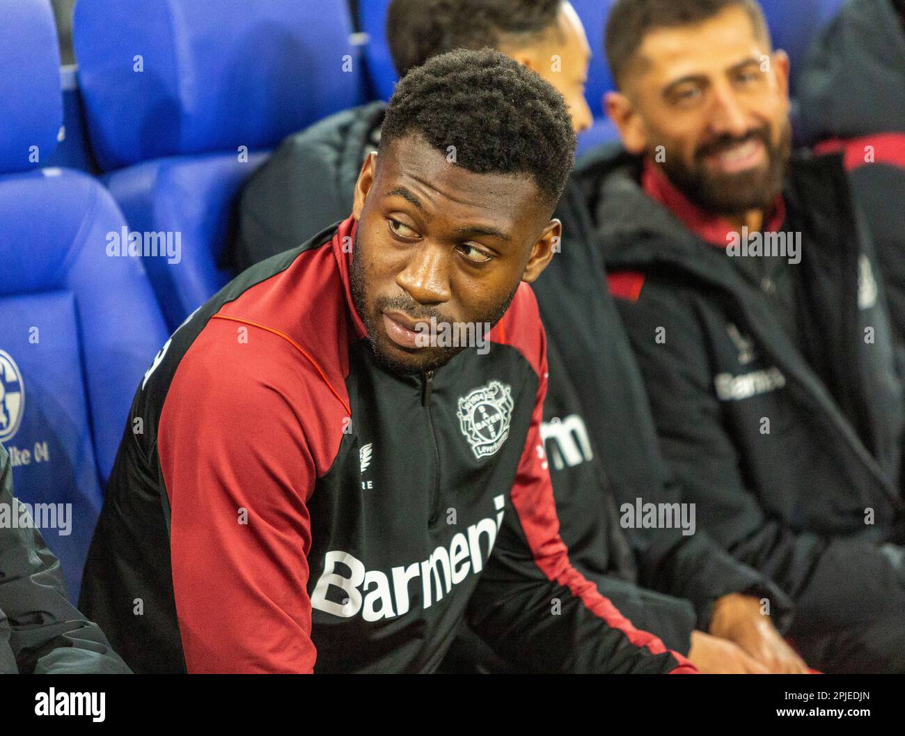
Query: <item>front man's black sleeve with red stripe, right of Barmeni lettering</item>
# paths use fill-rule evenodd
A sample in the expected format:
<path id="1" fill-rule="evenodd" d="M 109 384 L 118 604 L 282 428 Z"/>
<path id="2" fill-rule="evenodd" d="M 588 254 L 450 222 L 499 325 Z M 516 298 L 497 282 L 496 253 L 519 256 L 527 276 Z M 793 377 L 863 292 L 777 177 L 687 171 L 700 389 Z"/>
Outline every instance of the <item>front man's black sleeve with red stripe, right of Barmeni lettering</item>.
<path id="1" fill-rule="evenodd" d="M 634 628 L 569 562 L 540 437 L 548 377 L 539 320 L 538 329 L 534 414 L 468 623 L 504 659 L 538 672 L 695 672 L 656 636 Z"/>

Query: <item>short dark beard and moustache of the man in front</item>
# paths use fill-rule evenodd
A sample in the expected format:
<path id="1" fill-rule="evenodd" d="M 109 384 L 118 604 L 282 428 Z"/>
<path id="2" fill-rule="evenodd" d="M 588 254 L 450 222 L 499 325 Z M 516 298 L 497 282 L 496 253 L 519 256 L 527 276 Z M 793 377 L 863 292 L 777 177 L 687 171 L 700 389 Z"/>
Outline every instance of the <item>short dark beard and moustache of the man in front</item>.
<path id="1" fill-rule="evenodd" d="M 381 368 L 384 368 L 395 376 L 415 376 L 445 366 L 452 358 L 455 358 L 463 349 L 468 347 L 431 348 L 432 357 L 418 366 L 406 365 L 405 363 L 386 355 L 374 338 L 375 335 L 380 334 L 378 325 L 382 322 L 381 314 L 384 311 L 401 311 L 414 320 L 430 320 L 433 317 L 438 325 L 452 323 L 455 320 L 448 319 L 443 315 L 442 311 L 434 307 L 425 307 L 423 304 L 419 304 L 405 293 L 396 297 L 382 297 L 378 299 L 375 305 L 376 313 L 368 314 L 365 309 L 365 272 L 362 268 L 360 254 L 361 250 L 358 248 L 358 231 L 356 230 L 355 242 L 352 247 L 352 264 L 349 268 L 349 282 L 352 287 L 352 303 L 355 305 L 355 311 L 357 312 L 358 317 L 365 323 L 368 344 L 370 345 L 371 352 L 374 353 L 377 364 L 380 365 Z M 519 291 L 520 283 L 521 282 L 516 283 L 515 288 L 499 308 L 492 311 L 487 316 L 480 317 L 474 321 L 479 324 L 488 323 L 491 326 L 500 321 L 500 318 L 510 308 L 510 304 L 515 298 L 516 292 Z M 489 339 L 489 337 L 485 334 L 484 339 Z"/>

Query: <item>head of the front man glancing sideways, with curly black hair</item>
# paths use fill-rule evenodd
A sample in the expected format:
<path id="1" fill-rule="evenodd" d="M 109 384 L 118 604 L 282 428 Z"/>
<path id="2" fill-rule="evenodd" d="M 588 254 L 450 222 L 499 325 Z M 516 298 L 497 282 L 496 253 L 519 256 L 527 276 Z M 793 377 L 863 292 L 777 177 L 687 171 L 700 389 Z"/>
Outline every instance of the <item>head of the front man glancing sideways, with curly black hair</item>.
<path id="1" fill-rule="evenodd" d="M 575 147 L 562 95 L 502 53 L 459 49 L 405 75 L 353 206 L 352 298 L 378 362 L 440 368 L 462 348 L 423 347 L 417 330 L 500 320 L 553 255 Z"/>

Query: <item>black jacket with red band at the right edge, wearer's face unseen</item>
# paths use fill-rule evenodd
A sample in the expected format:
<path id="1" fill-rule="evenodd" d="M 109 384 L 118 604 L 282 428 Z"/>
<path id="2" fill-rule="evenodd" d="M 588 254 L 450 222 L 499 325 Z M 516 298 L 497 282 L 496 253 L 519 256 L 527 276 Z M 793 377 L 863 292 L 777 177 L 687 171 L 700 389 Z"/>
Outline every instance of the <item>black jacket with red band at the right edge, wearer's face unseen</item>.
<path id="1" fill-rule="evenodd" d="M 843 148 L 905 338 L 905 28 L 891 0 L 853 0 L 822 31 L 798 82 L 812 142 Z"/>

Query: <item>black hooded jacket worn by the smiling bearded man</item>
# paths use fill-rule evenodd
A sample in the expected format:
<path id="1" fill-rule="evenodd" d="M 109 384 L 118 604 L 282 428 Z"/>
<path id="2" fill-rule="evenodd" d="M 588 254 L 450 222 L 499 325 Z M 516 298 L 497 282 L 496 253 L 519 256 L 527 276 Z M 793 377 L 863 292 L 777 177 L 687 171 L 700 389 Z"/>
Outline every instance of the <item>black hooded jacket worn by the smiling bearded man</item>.
<path id="1" fill-rule="evenodd" d="M 698 523 L 793 597 L 793 636 L 900 617 L 905 588 L 880 544 L 903 540 L 902 387 L 840 159 L 795 158 L 786 187 L 822 375 L 763 293 L 647 196 L 639 175 L 640 161 L 618 148 L 576 173 L 593 247 L 641 286 L 618 303 L 662 452 Z"/>

